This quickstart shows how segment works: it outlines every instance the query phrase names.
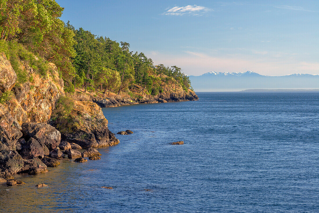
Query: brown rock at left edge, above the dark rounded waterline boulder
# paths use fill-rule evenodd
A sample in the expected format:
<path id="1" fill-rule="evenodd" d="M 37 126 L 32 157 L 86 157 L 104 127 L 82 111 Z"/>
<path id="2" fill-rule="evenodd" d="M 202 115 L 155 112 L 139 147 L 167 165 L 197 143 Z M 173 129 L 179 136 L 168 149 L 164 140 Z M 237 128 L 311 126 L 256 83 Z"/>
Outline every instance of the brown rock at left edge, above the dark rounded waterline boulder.
<path id="1" fill-rule="evenodd" d="M 14 127 L 9 126 L 4 128 L 0 126 L 0 142 L 6 145 L 11 150 L 16 150 L 16 143 L 22 137 L 22 132 Z"/>

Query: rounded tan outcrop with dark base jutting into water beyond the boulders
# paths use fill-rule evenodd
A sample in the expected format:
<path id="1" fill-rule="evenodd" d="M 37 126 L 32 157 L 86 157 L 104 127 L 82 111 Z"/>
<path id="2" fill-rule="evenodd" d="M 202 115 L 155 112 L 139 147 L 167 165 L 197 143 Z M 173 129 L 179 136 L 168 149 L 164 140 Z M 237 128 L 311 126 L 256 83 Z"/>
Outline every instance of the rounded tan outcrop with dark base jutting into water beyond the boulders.
<path id="1" fill-rule="evenodd" d="M 71 121 L 57 117 L 51 122 L 61 132 L 64 141 L 76 143 L 84 148 L 106 147 L 119 143 L 108 130 L 108 120 L 96 103 L 75 101 L 70 116 Z"/>

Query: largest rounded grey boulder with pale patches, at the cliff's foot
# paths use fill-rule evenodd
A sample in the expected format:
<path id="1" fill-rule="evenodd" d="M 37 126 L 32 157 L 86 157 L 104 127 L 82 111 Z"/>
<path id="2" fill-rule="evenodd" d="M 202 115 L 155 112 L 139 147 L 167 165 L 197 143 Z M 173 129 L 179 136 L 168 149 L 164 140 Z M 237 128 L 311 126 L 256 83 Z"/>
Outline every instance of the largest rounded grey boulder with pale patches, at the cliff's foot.
<path id="1" fill-rule="evenodd" d="M 33 137 L 36 140 L 43 142 L 50 151 L 60 144 L 60 132 L 49 124 L 30 122 L 23 123 L 21 127 L 25 138 Z"/>

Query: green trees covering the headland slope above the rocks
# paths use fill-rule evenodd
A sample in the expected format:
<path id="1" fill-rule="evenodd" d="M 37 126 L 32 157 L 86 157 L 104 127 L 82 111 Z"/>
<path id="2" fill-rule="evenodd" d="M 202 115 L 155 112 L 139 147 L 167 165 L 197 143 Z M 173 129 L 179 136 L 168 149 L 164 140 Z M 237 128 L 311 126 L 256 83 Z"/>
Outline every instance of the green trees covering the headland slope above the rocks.
<path id="1" fill-rule="evenodd" d="M 64 91 L 100 94 L 157 95 L 192 90 L 189 77 L 174 65 L 154 65 L 144 53 L 131 51 L 128 42 L 75 29 L 60 17 L 63 7 L 54 0 L 0 0 L 0 48 L 17 73 L 17 82 L 30 80 L 19 70 L 18 59 L 45 76 L 54 63 L 64 80 Z M 36 60 L 34 59 L 34 56 Z"/>

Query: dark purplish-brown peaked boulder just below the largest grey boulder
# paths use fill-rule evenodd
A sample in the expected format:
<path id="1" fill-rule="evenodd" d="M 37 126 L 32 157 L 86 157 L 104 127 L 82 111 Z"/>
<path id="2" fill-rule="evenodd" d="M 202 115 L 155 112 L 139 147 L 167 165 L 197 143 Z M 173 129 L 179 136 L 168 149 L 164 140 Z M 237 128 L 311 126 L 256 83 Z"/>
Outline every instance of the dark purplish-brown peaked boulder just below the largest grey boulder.
<path id="1" fill-rule="evenodd" d="M 26 143 L 21 145 L 20 155 L 23 159 L 32 159 L 33 157 L 44 157 L 44 150 L 39 141 L 30 138 Z"/>

